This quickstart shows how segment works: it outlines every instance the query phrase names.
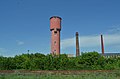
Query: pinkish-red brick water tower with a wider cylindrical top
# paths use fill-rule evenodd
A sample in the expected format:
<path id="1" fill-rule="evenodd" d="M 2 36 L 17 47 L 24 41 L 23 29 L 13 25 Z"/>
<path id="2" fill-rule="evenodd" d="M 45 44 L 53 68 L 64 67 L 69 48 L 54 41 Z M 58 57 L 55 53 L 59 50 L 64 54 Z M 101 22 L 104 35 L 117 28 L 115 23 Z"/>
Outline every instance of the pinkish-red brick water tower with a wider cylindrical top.
<path id="1" fill-rule="evenodd" d="M 50 18 L 50 31 L 51 31 L 51 54 L 60 55 L 60 31 L 61 31 L 61 18 L 52 16 Z"/>

